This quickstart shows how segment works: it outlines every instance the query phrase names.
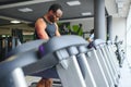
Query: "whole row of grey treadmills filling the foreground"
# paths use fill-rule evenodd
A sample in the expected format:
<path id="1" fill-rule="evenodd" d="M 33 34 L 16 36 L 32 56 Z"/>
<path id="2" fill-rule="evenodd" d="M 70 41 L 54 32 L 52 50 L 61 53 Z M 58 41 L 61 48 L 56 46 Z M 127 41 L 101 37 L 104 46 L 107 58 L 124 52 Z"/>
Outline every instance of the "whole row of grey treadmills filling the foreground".
<path id="1" fill-rule="evenodd" d="M 27 87 L 25 76 L 59 78 L 62 87 L 117 87 L 120 78 L 114 45 L 64 35 L 22 44 L 0 63 L 0 87 Z"/>

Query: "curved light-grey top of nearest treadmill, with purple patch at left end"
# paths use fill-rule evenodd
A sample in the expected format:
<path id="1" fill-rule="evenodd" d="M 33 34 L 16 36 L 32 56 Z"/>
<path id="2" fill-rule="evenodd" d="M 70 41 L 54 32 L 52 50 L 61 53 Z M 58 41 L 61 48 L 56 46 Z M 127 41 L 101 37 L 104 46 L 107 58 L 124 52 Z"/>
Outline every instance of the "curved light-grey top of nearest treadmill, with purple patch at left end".
<path id="1" fill-rule="evenodd" d="M 82 37 L 76 35 L 63 35 L 61 37 L 53 37 L 49 39 L 47 42 L 43 44 L 39 47 L 39 53 L 43 57 L 49 52 L 53 52 L 63 48 L 68 48 L 71 46 L 80 46 L 80 45 L 87 46 L 88 42 Z"/>

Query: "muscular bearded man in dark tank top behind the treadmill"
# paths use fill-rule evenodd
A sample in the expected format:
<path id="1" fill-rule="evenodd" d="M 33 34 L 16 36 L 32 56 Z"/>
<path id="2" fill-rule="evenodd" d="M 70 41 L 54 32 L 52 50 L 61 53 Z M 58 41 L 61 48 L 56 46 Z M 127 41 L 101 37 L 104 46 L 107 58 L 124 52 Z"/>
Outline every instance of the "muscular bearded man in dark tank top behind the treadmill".
<path id="1" fill-rule="evenodd" d="M 37 39 L 49 39 L 55 36 L 60 36 L 57 21 L 62 16 L 62 7 L 60 4 L 50 5 L 48 12 L 39 17 L 35 23 L 35 35 Z M 37 87 L 51 87 L 51 78 L 41 78 Z"/>

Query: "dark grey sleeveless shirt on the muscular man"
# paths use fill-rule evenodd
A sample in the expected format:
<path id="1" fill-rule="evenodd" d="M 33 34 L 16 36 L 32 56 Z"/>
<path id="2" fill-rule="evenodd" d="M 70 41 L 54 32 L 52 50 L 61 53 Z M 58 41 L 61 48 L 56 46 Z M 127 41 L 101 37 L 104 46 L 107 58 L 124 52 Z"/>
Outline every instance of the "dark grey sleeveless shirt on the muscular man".
<path id="1" fill-rule="evenodd" d="M 55 35 L 56 34 L 56 25 L 55 25 L 55 23 L 51 24 L 51 23 L 47 22 L 45 17 L 43 17 L 43 20 L 46 22 L 47 27 L 46 27 L 45 30 L 46 30 L 47 35 L 49 36 L 49 38 L 56 36 Z M 35 29 L 35 36 L 36 36 L 36 39 L 40 39 L 38 37 L 38 35 L 37 35 L 36 29 Z"/>

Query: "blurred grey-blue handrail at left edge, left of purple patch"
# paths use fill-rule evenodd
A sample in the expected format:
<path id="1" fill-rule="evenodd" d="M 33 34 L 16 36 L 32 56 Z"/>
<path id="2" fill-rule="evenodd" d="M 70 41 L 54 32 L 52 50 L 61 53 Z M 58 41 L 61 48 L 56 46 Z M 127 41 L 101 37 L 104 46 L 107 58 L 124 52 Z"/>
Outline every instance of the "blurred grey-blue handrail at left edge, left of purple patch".
<path id="1" fill-rule="evenodd" d="M 11 73 L 16 67 L 23 67 L 37 61 L 36 50 L 26 51 L 10 57 L 0 63 L 0 78 Z"/>

